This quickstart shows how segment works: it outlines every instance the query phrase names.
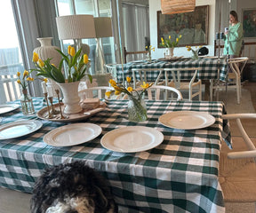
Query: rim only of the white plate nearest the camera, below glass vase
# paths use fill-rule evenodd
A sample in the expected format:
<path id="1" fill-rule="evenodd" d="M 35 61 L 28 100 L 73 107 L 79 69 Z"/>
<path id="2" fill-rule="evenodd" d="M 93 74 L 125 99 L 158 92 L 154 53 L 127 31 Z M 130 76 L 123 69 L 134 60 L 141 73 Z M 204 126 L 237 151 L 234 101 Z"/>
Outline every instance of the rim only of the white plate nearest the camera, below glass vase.
<path id="1" fill-rule="evenodd" d="M 122 131 L 127 131 L 127 130 L 144 130 L 144 131 L 148 131 L 150 133 L 155 133 L 157 135 L 156 138 L 156 142 L 154 144 L 154 146 L 149 146 L 148 148 L 141 148 L 138 149 L 137 151 L 122 151 L 122 150 L 117 150 L 117 149 L 112 149 L 111 147 L 108 146 L 108 143 L 106 142 L 108 137 L 111 135 L 115 135 L 116 132 L 122 132 Z M 110 151 L 114 151 L 117 153 L 138 153 L 138 152 L 144 152 L 147 151 L 149 149 L 155 148 L 156 146 L 159 146 L 162 142 L 164 141 L 164 134 L 159 131 L 156 130 L 155 128 L 151 128 L 151 127 L 145 127 L 145 126 L 127 126 L 127 127 L 122 127 L 122 128 L 118 128 L 116 130 L 111 130 L 108 133 L 106 133 L 101 139 L 100 139 L 100 144 L 101 146 L 103 146 L 104 148 L 110 150 Z"/>

